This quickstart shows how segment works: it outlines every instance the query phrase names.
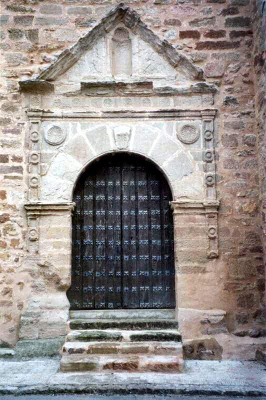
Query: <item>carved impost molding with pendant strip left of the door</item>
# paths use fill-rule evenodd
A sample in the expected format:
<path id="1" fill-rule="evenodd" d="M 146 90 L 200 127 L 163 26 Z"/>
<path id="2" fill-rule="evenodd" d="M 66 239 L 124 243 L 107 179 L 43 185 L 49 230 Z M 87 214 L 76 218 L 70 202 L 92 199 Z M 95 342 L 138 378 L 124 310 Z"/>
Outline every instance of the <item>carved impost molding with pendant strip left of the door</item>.
<path id="1" fill-rule="evenodd" d="M 39 248 L 39 217 L 51 215 L 59 211 L 72 212 L 74 202 L 40 203 L 30 202 L 24 204 L 27 215 L 27 251 L 37 253 Z"/>

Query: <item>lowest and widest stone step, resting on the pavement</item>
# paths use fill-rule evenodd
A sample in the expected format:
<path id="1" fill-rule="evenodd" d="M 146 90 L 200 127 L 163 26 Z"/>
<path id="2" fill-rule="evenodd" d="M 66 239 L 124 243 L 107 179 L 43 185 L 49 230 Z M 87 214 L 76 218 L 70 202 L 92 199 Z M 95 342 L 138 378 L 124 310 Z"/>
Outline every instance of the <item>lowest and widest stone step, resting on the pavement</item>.
<path id="1" fill-rule="evenodd" d="M 62 357 L 61 372 L 76 371 L 112 371 L 112 372 L 182 372 L 183 359 L 175 355 L 87 355 L 80 359 L 79 354 Z"/>

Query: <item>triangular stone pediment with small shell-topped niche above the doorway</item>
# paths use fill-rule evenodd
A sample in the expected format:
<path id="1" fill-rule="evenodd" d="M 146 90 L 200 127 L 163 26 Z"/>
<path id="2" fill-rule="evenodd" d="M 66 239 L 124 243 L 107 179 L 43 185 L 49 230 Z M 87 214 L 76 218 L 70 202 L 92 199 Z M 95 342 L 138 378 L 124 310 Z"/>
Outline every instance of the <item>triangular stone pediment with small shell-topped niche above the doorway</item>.
<path id="1" fill-rule="evenodd" d="M 122 43 L 119 34 L 123 35 L 123 28 L 129 34 Z M 119 29 L 120 33 L 117 33 Z M 117 39 L 115 34 L 118 34 Z M 120 63 L 119 57 L 123 57 Z M 131 81 L 156 81 L 163 76 L 167 82 L 172 81 L 172 84 L 178 81 L 184 83 L 188 80 L 203 80 L 201 68 L 166 40 L 161 40 L 141 21 L 134 10 L 123 3 L 110 10 L 72 47 L 62 51 L 37 79 L 59 79 L 61 82 L 69 82 L 69 79 L 76 82 L 109 80 L 116 78 L 113 68 L 121 75 L 126 75 L 126 64 L 130 76 L 127 80 Z"/>

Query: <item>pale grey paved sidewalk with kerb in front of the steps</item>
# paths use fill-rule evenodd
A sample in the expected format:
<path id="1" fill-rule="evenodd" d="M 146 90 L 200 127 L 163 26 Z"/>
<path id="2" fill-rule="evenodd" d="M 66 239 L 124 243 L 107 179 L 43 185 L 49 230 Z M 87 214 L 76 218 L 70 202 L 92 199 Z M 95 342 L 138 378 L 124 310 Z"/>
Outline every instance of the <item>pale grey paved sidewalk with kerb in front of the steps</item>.
<path id="1" fill-rule="evenodd" d="M 186 361 L 180 374 L 57 373 L 58 365 L 59 360 L 54 358 L 0 361 L 0 394 L 227 394 L 266 398 L 266 367 L 253 361 Z"/>

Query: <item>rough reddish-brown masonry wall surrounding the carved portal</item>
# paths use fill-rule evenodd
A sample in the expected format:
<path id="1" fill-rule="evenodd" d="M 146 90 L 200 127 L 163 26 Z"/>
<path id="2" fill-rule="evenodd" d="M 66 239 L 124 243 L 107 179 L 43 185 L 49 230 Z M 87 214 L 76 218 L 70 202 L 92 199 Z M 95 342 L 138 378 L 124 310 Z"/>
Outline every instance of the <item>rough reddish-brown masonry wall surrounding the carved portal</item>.
<path id="1" fill-rule="evenodd" d="M 209 290 L 206 299 L 198 301 L 198 308 L 208 305 L 226 311 L 226 320 L 221 318 L 222 326 L 197 319 L 197 323 L 207 324 L 208 329 L 199 329 L 194 337 L 203 331 L 209 336 L 234 332 L 245 336 L 248 344 L 250 335 L 261 334 L 262 320 L 257 316 L 264 292 L 256 155 L 259 131 L 256 135 L 258 114 L 254 108 L 252 60 L 253 9 L 248 0 L 126 3 L 160 38 L 166 38 L 202 67 L 208 82 L 219 85 L 215 148 L 221 198 L 220 258 L 212 261 L 211 273 L 210 267 L 204 268 L 204 260 L 198 268 L 184 271 L 183 282 L 189 284 L 200 278 Z M 54 59 L 54 54 L 74 43 L 115 4 L 104 0 L 2 0 L 1 3 L 0 340 L 9 344 L 18 338 L 19 315 L 26 309 L 34 281 L 42 273 L 23 264 L 27 124 L 20 106 L 18 80 L 34 76 Z M 253 53 L 256 51 L 255 47 Z M 261 141 L 261 135 L 258 137 Z M 184 304 L 192 306 L 189 301 Z M 236 336 L 236 340 L 243 339 Z M 236 352 L 237 349 L 227 351 L 227 357 L 235 357 Z"/>

